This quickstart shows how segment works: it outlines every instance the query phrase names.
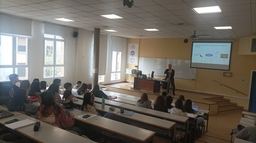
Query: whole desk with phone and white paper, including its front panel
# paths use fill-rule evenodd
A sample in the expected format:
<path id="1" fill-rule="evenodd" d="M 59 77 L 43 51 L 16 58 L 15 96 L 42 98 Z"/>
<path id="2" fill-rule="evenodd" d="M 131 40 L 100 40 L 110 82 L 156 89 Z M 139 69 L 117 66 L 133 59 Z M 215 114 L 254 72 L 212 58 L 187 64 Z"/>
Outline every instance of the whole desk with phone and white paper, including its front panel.
<path id="1" fill-rule="evenodd" d="M 154 135 L 156 134 L 155 132 L 148 131 L 146 129 L 141 129 L 136 126 L 124 124 L 124 123 L 114 121 L 108 118 L 104 118 L 98 115 L 84 120 L 77 116 L 82 115 L 85 112 L 76 110 L 76 109 L 70 112 L 75 115 L 76 121 L 80 121 L 81 123 L 87 124 L 89 125 L 87 126 L 88 128 L 91 128 L 96 132 L 100 132 L 103 134 L 105 133 L 104 135 L 108 137 L 115 138 L 117 140 L 125 140 L 126 142 L 130 142 L 130 143 L 134 143 L 134 142 L 139 142 L 139 143 L 152 142 L 153 143 L 154 142 Z M 125 138 L 122 138 L 122 137 L 125 137 Z"/>

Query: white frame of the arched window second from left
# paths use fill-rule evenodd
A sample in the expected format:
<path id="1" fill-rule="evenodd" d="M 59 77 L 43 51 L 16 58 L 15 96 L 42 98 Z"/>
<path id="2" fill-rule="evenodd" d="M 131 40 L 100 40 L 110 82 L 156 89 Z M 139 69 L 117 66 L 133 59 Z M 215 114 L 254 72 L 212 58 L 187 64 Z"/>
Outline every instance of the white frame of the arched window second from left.
<path id="1" fill-rule="evenodd" d="M 46 33 L 45 33 L 46 34 Z M 56 78 L 56 77 L 59 77 L 59 76 L 55 76 L 55 68 L 56 67 L 64 67 L 64 73 L 63 73 L 63 76 L 60 76 L 60 77 L 65 77 L 66 76 L 66 40 L 63 36 L 61 36 L 63 39 L 59 39 L 59 38 L 56 38 L 57 35 L 54 35 L 54 38 L 47 38 L 47 37 L 44 37 L 43 38 L 43 79 L 45 78 Z M 53 64 L 45 64 L 45 60 L 46 60 L 46 55 L 45 55 L 45 50 L 46 50 L 46 40 L 49 40 L 49 41 L 54 41 L 54 46 L 53 46 Z M 57 41 L 60 41 L 60 42 L 64 42 L 64 50 L 63 50 L 63 64 L 56 64 L 56 49 L 57 49 Z M 45 67 L 53 67 L 53 77 L 44 77 L 44 68 Z"/>

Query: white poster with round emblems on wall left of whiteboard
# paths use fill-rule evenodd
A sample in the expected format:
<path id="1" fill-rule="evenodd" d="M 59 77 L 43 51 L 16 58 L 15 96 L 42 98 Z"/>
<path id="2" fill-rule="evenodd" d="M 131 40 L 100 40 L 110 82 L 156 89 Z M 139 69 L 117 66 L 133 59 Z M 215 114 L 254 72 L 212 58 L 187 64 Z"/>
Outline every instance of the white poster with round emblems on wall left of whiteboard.
<path id="1" fill-rule="evenodd" d="M 138 48 L 139 44 L 128 44 L 127 63 L 138 63 Z"/>

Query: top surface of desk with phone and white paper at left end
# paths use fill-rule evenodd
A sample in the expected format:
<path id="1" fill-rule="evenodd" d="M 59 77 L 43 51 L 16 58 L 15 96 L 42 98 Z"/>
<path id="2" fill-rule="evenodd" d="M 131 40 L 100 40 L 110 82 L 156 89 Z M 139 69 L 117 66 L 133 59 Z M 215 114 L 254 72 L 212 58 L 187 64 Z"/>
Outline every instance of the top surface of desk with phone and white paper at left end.
<path id="1" fill-rule="evenodd" d="M 141 142 L 145 142 L 148 139 L 150 139 L 151 137 L 153 137 L 155 135 L 155 132 L 146 130 L 146 129 L 142 129 L 136 126 L 131 126 L 128 124 L 124 124 L 118 121 L 114 121 L 108 118 L 104 118 L 101 116 L 95 116 L 92 118 L 88 118 L 86 120 L 83 120 L 79 117 L 77 117 L 78 115 L 82 115 L 85 112 L 80 111 L 80 110 L 72 110 L 70 111 L 71 113 L 73 113 L 75 115 L 75 119 L 79 120 L 81 122 L 84 122 L 86 124 L 90 124 L 92 126 L 96 126 L 98 128 L 104 129 L 104 130 L 108 130 L 110 132 L 114 132 L 118 135 L 122 135 L 125 137 L 129 137 L 131 139 L 134 140 L 138 140 Z"/>

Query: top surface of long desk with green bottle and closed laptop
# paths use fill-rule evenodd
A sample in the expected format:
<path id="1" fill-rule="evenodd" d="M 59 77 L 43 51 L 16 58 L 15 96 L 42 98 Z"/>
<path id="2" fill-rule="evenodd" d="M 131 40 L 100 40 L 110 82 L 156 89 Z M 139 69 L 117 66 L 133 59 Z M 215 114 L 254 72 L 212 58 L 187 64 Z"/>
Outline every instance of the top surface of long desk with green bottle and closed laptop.
<path id="1" fill-rule="evenodd" d="M 109 107 L 111 107 L 111 106 L 105 105 L 104 109 L 102 109 L 101 107 L 97 107 L 97 110 L 107 112 L 107 113 L 113 113 L 113 111 L 109 110 Z M 115 111 L 120 111 L 120 109 L 116 108 Z M 139 113 L 133 113 L 131 116 L 129 116 L 129 115 L 122 115 L 122 113 L 119 112 L 114 115 L 120 116 L 122 118 L 128 118 L 133 121 L 149 124 L 152 126 L 156 126 L 156 127 L 162 128 L 162 129 L 170 130 L 172 127 L 175 126 L 175 122 L 163 120 L 160 118 L 154 118 L 154 117 L 139 114 Z"/>

